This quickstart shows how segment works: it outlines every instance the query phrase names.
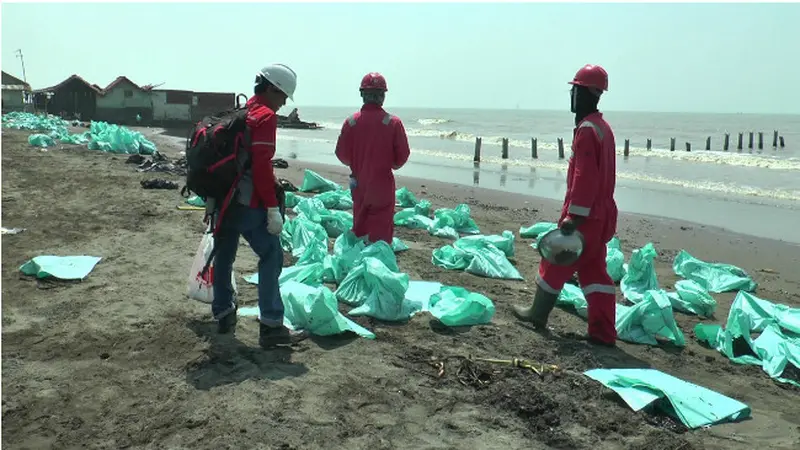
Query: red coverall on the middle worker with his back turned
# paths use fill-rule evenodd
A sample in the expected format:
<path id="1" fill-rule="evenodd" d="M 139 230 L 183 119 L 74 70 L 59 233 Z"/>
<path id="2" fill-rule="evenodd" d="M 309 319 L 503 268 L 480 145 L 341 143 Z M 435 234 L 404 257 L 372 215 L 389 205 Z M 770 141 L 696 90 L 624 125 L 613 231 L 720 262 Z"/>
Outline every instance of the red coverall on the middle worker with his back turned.
<path id="1" fill-rule="evenodd" d="M 350 167 L 355 178 L 351 193 L 353 233 L 357 237 L 392 243 L 395 204 L 392 170 L 403 167 L 410 153 L 403 122 L 382 107 L 366 104 L 345 120 L 336 143 L 336 157 Z"/>

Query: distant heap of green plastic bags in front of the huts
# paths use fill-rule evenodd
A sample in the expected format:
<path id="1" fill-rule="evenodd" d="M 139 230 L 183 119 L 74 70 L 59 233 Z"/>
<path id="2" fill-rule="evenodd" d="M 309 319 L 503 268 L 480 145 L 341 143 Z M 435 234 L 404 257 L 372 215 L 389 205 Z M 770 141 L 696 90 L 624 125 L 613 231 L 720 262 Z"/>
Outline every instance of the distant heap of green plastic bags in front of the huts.
<path id="1" fill-rule="evenodd" d="M 10 112 L 3 115 L 3 127 L 18 130 L 42 131 L 28 136 L 28 143 L 36 147 L 52 147 L 56 141 L 64 144 L 87 144 L 89 150 L 109 153 L 138 153 L 152 155 L 156 146 L 141 133 L 120 125 L 91 122 L 89 130 L 70 134 L 70 123 L 52 115 Z"/>

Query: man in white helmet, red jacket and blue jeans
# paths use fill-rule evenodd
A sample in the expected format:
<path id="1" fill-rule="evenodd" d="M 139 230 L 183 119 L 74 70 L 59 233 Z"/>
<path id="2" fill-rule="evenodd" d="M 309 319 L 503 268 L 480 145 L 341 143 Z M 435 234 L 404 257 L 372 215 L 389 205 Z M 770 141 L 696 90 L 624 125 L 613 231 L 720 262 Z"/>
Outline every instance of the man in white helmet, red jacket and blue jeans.
<path id="1" fill-rule="evenodd" d="M 229 333 L 236 326 L 237 305 L 230 280 L 239 236 L 243 236 L 258 255 L 259 344 L 263 348 L 307 337 L 306 333 L 283 326 L 283 301 L 278 285 L 283 266 L 280 243 L 283 216 L 272 168 L 278 130 L 276 112 L 287 98 L 292 98 L 296 86 L 297 75 L 283 64 L 266 66 L 256 74 L 254 95 L 247 101 L 249 139 L 245 138 L 245 148 L 250 167 L 236 186 L 235 199 L 223 215 L 215 239 L 212 312 L 218 320 L 219 332 Z"/>

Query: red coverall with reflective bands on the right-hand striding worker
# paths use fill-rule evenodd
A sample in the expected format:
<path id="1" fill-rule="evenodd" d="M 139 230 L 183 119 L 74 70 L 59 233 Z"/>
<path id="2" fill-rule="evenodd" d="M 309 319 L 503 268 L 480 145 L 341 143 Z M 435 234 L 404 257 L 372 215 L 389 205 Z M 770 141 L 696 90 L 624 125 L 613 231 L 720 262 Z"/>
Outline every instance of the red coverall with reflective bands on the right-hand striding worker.
<path id="1" fill-rule="evenodd" d="M 567 194 L 561 223 L 568 216 L 583 216 L 578 227 L 586 246 L 572 266 L 557 266 L 542 260 L 536 283 L 558 294 L 578 272 L 589 304 L 589 335 L 605 343 L 617 338 L 614 282 L 606 269 L 606 243 L 617 230 L 616 143 L 614 132 L 599 112 L 584 118 L 574 130 L 572 157 L 567 171 Z"/>

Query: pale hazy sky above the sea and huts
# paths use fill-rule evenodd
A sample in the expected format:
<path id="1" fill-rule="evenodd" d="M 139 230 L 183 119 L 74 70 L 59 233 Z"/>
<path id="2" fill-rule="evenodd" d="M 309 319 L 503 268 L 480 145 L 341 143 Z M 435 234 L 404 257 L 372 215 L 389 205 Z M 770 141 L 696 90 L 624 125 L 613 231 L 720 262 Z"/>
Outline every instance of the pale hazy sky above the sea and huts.
<path id="1" fill-rule="evenodd" d="M 565 109 L 586 63 L 606 110 L 800 114 L 800 4 L 7 4 L 2 68 L 252 92 L 298 73 L 298 106 L 354 106 L 369 71 L 394 107 Z M 788 84 L 790 82 L 792 84 Z M 289 105 L 291 106 L 291 105 Z"/>

